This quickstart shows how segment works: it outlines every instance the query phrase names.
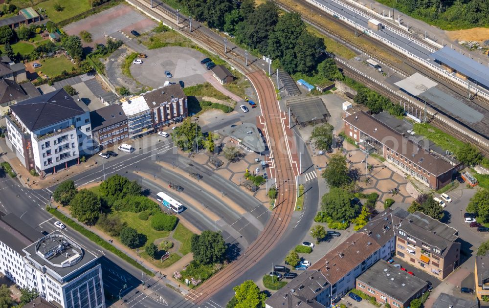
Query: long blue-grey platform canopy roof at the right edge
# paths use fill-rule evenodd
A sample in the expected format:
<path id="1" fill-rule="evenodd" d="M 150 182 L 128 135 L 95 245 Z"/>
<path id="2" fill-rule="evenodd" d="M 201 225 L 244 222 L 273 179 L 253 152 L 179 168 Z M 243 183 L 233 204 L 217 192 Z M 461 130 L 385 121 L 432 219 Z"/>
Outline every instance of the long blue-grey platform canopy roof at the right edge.
<path id="1" fill-rule="evenodd" d="M 432 53 L 430 57 L 464 74 L 485 88 L 489 88 L 489 68 L 448 46 Z"/>

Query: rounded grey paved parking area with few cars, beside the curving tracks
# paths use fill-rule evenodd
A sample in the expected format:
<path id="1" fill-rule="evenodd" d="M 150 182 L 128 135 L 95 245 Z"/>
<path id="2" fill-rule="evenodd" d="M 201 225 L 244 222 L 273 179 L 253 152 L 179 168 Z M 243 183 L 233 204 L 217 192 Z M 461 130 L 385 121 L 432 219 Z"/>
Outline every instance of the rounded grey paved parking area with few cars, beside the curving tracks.
<path id="1" fill-rule="evenodd" d="M 145 86 L 158 88 L 165 81 L 182 80 L 187 86 L 195 86 L 205 82 L 202 76 L 207 72 L 200 61 L 206 58 L 195 49 L 185 47 L 164 47 L 146 51 L 147 58 L 141 59 L 142 64 L 131 65 L 134 79 Z M 167 78 L 165 70 L 170 71 L 172 78 Z"/>

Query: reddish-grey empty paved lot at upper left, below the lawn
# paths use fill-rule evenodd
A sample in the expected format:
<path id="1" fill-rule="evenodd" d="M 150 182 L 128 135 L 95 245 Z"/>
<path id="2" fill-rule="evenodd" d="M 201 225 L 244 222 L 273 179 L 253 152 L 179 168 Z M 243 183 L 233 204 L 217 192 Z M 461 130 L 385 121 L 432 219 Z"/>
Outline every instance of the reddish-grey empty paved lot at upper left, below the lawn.
<path id="1" fill-rule="evenodd" d="M 88 31 L 92 35 L 92 42 L 83 42 L 84 46 L 93 47 L 95 44 L 105 44 L 106 35 L 122 31 L 130 35 L 131 30 L 145 33 L 156 26 L 156 22 L 149 19 L 130 5 L 119 4 L 108 10 L 87 17 L 81 21 L 73 22 L 64 27 L 68 35 L 78 35 L 81 31 Z"/>

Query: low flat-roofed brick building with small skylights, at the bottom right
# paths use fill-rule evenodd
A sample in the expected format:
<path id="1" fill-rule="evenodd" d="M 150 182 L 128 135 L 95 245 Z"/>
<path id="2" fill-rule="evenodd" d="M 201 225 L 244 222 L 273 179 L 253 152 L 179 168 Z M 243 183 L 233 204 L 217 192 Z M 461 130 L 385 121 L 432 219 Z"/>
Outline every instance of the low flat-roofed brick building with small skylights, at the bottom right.
<path id="1" fill-rule="evenodd" d="M 379 260 L 356 278 L 356 289 L 375 297 L 378 303 L 405 308 L 426 292 L 428 283 Z"/>

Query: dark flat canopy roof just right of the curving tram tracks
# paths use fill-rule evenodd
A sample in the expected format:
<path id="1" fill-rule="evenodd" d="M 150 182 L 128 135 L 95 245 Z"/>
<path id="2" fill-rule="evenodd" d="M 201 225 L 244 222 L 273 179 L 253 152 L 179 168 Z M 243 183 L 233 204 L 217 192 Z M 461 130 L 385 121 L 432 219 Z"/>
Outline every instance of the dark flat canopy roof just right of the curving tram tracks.
<path id="1" fill-rule="evenodd" d="M 290 99 L 287 101 L 287 105 L 299 123 L 307 123 L 331 116 L 320 97 Z"/>

